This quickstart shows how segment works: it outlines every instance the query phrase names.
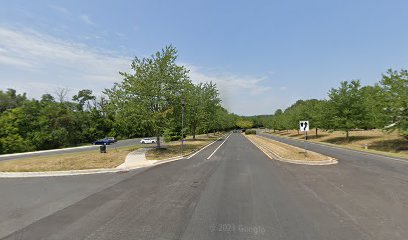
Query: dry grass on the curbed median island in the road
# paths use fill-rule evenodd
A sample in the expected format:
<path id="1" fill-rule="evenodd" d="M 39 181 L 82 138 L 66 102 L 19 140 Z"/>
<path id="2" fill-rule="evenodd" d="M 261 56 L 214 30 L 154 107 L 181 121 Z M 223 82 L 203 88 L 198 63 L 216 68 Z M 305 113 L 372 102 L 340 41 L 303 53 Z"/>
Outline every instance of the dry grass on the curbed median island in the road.
<path id="1" fill-rule="evenodd" d="M 272 139 L 268 139 L 265 137 L 255 136 L 255 135 L 247 135 L 248 139 L 254 142 L 256 145 L 265 148 L 275 155 L 287 159 L 287 160 L 301 160 L 301 161 L 325 161 L 329 160 L 327 156 L 324 156 L 319 153 L 315 153 L 312 151 L 307 151 L 305 153 L 303 149 L 290 146 L 288 144 L 284 144 L 278 141 L 274 141 Z"/>

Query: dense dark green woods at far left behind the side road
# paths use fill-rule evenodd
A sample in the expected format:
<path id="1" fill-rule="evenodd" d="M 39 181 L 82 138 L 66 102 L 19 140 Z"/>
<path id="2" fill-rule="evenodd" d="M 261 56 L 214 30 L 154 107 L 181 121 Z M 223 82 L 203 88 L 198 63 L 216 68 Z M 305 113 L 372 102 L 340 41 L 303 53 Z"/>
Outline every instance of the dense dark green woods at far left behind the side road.
<path id="1" fill-rule="evenodd" d="M 79 91 L 72 101 L 51 94 L 27 99 L 13 89 L 0 91 L 0 153 L 76 146 L 108 136 L 114 119 L 107 104 L 91 90 Z"/>

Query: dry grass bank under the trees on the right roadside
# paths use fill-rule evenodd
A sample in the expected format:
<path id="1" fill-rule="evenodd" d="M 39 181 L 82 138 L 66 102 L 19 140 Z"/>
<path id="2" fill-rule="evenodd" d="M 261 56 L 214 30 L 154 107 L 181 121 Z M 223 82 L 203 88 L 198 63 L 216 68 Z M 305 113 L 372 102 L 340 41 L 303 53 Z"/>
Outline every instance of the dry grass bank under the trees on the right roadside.
<path id="1" fill-rule="evenodd" d="M 296 130 L 270 132 L 278 136 L 303 139 L 303 134 L 297 134 Z M 354 150 L 363 150 L 387 156 L 408 158 L 408 140 L 399 136 L 397 132 L 384 132 L 382 130 L 351 131 L 347 140 L 345 132 L 319 130 L 308 132 L 308 140 L 324 144 L 332 144 Z M 368 149 L 365 149 L 367 146 Z"/>

